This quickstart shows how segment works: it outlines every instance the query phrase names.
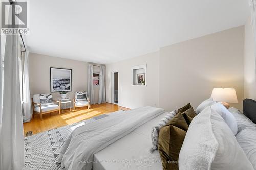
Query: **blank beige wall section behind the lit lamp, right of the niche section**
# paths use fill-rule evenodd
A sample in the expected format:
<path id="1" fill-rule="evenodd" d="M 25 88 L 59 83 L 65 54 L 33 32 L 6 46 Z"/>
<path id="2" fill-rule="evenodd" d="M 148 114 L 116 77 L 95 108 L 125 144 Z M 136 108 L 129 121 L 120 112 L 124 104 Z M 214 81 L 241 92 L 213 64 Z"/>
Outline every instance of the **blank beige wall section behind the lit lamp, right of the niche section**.
<path id="1" fill-rule="evenodd" d="M 196 108 L 212 88 L 236 88 L 241 109 L 244 26 L 160 49 L 159 104 L 171 111 L 191 102 Z"/>

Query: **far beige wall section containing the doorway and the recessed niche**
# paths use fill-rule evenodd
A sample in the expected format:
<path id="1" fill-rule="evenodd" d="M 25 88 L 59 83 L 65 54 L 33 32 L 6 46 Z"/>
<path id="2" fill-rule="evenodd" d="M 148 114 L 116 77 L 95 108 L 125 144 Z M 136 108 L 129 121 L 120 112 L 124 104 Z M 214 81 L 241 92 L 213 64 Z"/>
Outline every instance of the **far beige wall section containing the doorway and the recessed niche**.
<path id="1" fill-rule="evenodd" d="M 132 67 L 147 64 L 146 87 L 132 86 Z M 111 72 L 118 72 L 118 105 L 127 108 L 158 106 L 158 52 L 106 65 L 106 100 L 111 102 Z"/>

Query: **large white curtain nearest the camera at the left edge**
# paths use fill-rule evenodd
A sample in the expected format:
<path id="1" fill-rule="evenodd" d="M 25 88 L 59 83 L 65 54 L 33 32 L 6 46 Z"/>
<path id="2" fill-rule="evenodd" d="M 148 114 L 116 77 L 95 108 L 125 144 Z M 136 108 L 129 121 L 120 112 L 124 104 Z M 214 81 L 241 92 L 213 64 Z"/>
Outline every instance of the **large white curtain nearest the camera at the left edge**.
<path id="1" fill-rule="evenodd" d="M 1 117 L 1 169 L 23 169 L 24 134 L 17 51 L 17 35 L 6 37 L 3 112 Z"/>

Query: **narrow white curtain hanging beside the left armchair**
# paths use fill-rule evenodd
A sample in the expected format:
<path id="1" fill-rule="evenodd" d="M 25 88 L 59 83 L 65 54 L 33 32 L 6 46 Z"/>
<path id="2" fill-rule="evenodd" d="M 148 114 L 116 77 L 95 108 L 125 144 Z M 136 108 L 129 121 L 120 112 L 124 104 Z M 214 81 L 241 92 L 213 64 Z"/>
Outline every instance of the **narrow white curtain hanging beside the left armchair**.
<path id="1" fill-rule="evenodd" d="M 32 116 L 32 107 L 29 91 L 29 52 L 24 54 L 23 65 L 23 122 L 29 122 Z"/>

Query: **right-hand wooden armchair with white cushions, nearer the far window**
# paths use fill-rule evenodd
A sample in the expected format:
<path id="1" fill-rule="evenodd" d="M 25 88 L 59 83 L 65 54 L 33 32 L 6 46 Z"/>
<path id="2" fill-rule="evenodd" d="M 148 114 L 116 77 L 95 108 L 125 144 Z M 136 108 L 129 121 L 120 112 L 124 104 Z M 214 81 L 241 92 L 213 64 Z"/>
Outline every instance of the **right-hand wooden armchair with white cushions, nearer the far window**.
<path id="1" fill-rule="evenodd" d="M 73 108 L 75 111 L 76 107 L 86 107 L 89 110 L 89 108 L 91 108 L 91 103 L 90 100 L 87 96 L 87 92 L 86 91 L 77 91 L 75 94 L 75 99 L 73 100 Z"/>

